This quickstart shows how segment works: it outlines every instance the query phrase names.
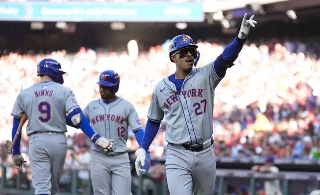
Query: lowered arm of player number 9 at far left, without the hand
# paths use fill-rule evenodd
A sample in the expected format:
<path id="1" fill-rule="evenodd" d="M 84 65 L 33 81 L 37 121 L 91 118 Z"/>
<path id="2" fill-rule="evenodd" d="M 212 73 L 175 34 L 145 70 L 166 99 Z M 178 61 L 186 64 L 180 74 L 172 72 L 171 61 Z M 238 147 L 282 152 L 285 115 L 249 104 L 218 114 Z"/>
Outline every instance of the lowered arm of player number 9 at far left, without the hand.
<path id="1" fill-rule="evenodd" d="M 11 112 L 11 115 L 13 116 L 13 125 L 12 125 L 12 131 L 11 131 L 12 140 L 11 141 L 13 141 L 14 136 L 18 130 L 21 115 L 23 112 L 25 112 L 24 106 L 23 106 L 21 94 L 19 94 L 15 100 L 15 103 L 14 103 L 14 106 L 13 106 L 13 109 Z M 13 156 L 21 154 L 20 153 L 20 142 L 21 142 L 21 133 L 19 133 L 18 138 L 13 145 L 13 148 L 12 148 Z"/>

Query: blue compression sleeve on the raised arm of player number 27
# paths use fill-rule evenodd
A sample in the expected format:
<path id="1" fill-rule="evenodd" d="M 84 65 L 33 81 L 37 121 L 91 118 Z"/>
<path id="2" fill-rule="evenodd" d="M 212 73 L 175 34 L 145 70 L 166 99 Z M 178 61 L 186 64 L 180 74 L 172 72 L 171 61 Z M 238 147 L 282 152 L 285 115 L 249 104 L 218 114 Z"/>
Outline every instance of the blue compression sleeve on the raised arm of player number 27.
<path id="1" fill-rule="evenodd" d="M 224 60 L 228 60 L 230 62 L 234 62 L 239 56 L 239 53 L 240 53 L 240 51 L 241 51 L 241 49 L 243 47 L 244 41 L 245 41 L 245 39 L 241 40 L 239 38 L 235 38 L 235 40 L 231 44 L 229 44 L 225 48 L 225 50 L 222 52 L 221 57 Z M 214 61 L 213 66 L 214 66 L 215 71 L 217 73 L 217 76 L 219 78 L 223 78 L 226 75 L 227 68 L 222 68 L 220 66 L 218 58 Z"/>

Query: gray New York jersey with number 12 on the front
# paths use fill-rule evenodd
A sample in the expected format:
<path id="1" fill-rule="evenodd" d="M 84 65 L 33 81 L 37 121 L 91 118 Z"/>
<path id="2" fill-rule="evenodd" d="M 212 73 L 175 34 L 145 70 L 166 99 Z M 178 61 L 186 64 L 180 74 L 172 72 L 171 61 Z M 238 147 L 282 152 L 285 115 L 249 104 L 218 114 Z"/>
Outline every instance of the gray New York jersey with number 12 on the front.
<path id="1" fill-rule="evenodd" d="M 106 104 L 102 99 L 93 100 L 83 110 L 93 130 L 107 139 L 114 140 L 115 153 L 128 151 L 128 127 L 135 132 L 142 127 L 135 107 L 123 98 Z M 92 150 L 102 151 L 96 145 Z"/>

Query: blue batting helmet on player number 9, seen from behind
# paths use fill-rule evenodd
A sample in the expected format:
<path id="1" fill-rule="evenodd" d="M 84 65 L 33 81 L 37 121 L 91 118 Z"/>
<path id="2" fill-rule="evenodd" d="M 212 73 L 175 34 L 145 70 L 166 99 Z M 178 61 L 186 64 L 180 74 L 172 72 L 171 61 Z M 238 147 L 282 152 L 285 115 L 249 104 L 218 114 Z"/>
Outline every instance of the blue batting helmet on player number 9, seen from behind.
<path id="1" fill-rule="evenodd" d="M 37 73 L 38 76 L 47 75 L 54 82 L 63 84 L 63 77 L 62 75 L 66 74 L 66 72 L 61 70 L 61 64 L 54 59 L 46 58 L 39 62 L 37 65 Z"/>

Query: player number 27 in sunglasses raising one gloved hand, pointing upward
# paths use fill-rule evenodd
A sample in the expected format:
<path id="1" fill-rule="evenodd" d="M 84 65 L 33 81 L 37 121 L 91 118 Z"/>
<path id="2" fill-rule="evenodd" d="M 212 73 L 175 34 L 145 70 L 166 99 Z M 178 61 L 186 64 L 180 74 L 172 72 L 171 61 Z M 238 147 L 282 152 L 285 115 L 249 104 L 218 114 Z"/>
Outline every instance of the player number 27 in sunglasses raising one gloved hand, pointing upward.
<path id="1" fill-rule="evenodd" d="M 176 72 L 154 88 L 145 134 L 136 159 L 137 174 L 144 165 L 146 151 L 165 117 L 165 167 L 171 195 L 213 195 L 216 159 L 213 151 L 213 100 L 217 85 L 237 59 L 250 26 L 257 22 L 244 15 L 235 40 L 214 61 L 193 68 L 199 52 L 191 37 L 178 35 L 171 40 L 169 57 Z"/>

